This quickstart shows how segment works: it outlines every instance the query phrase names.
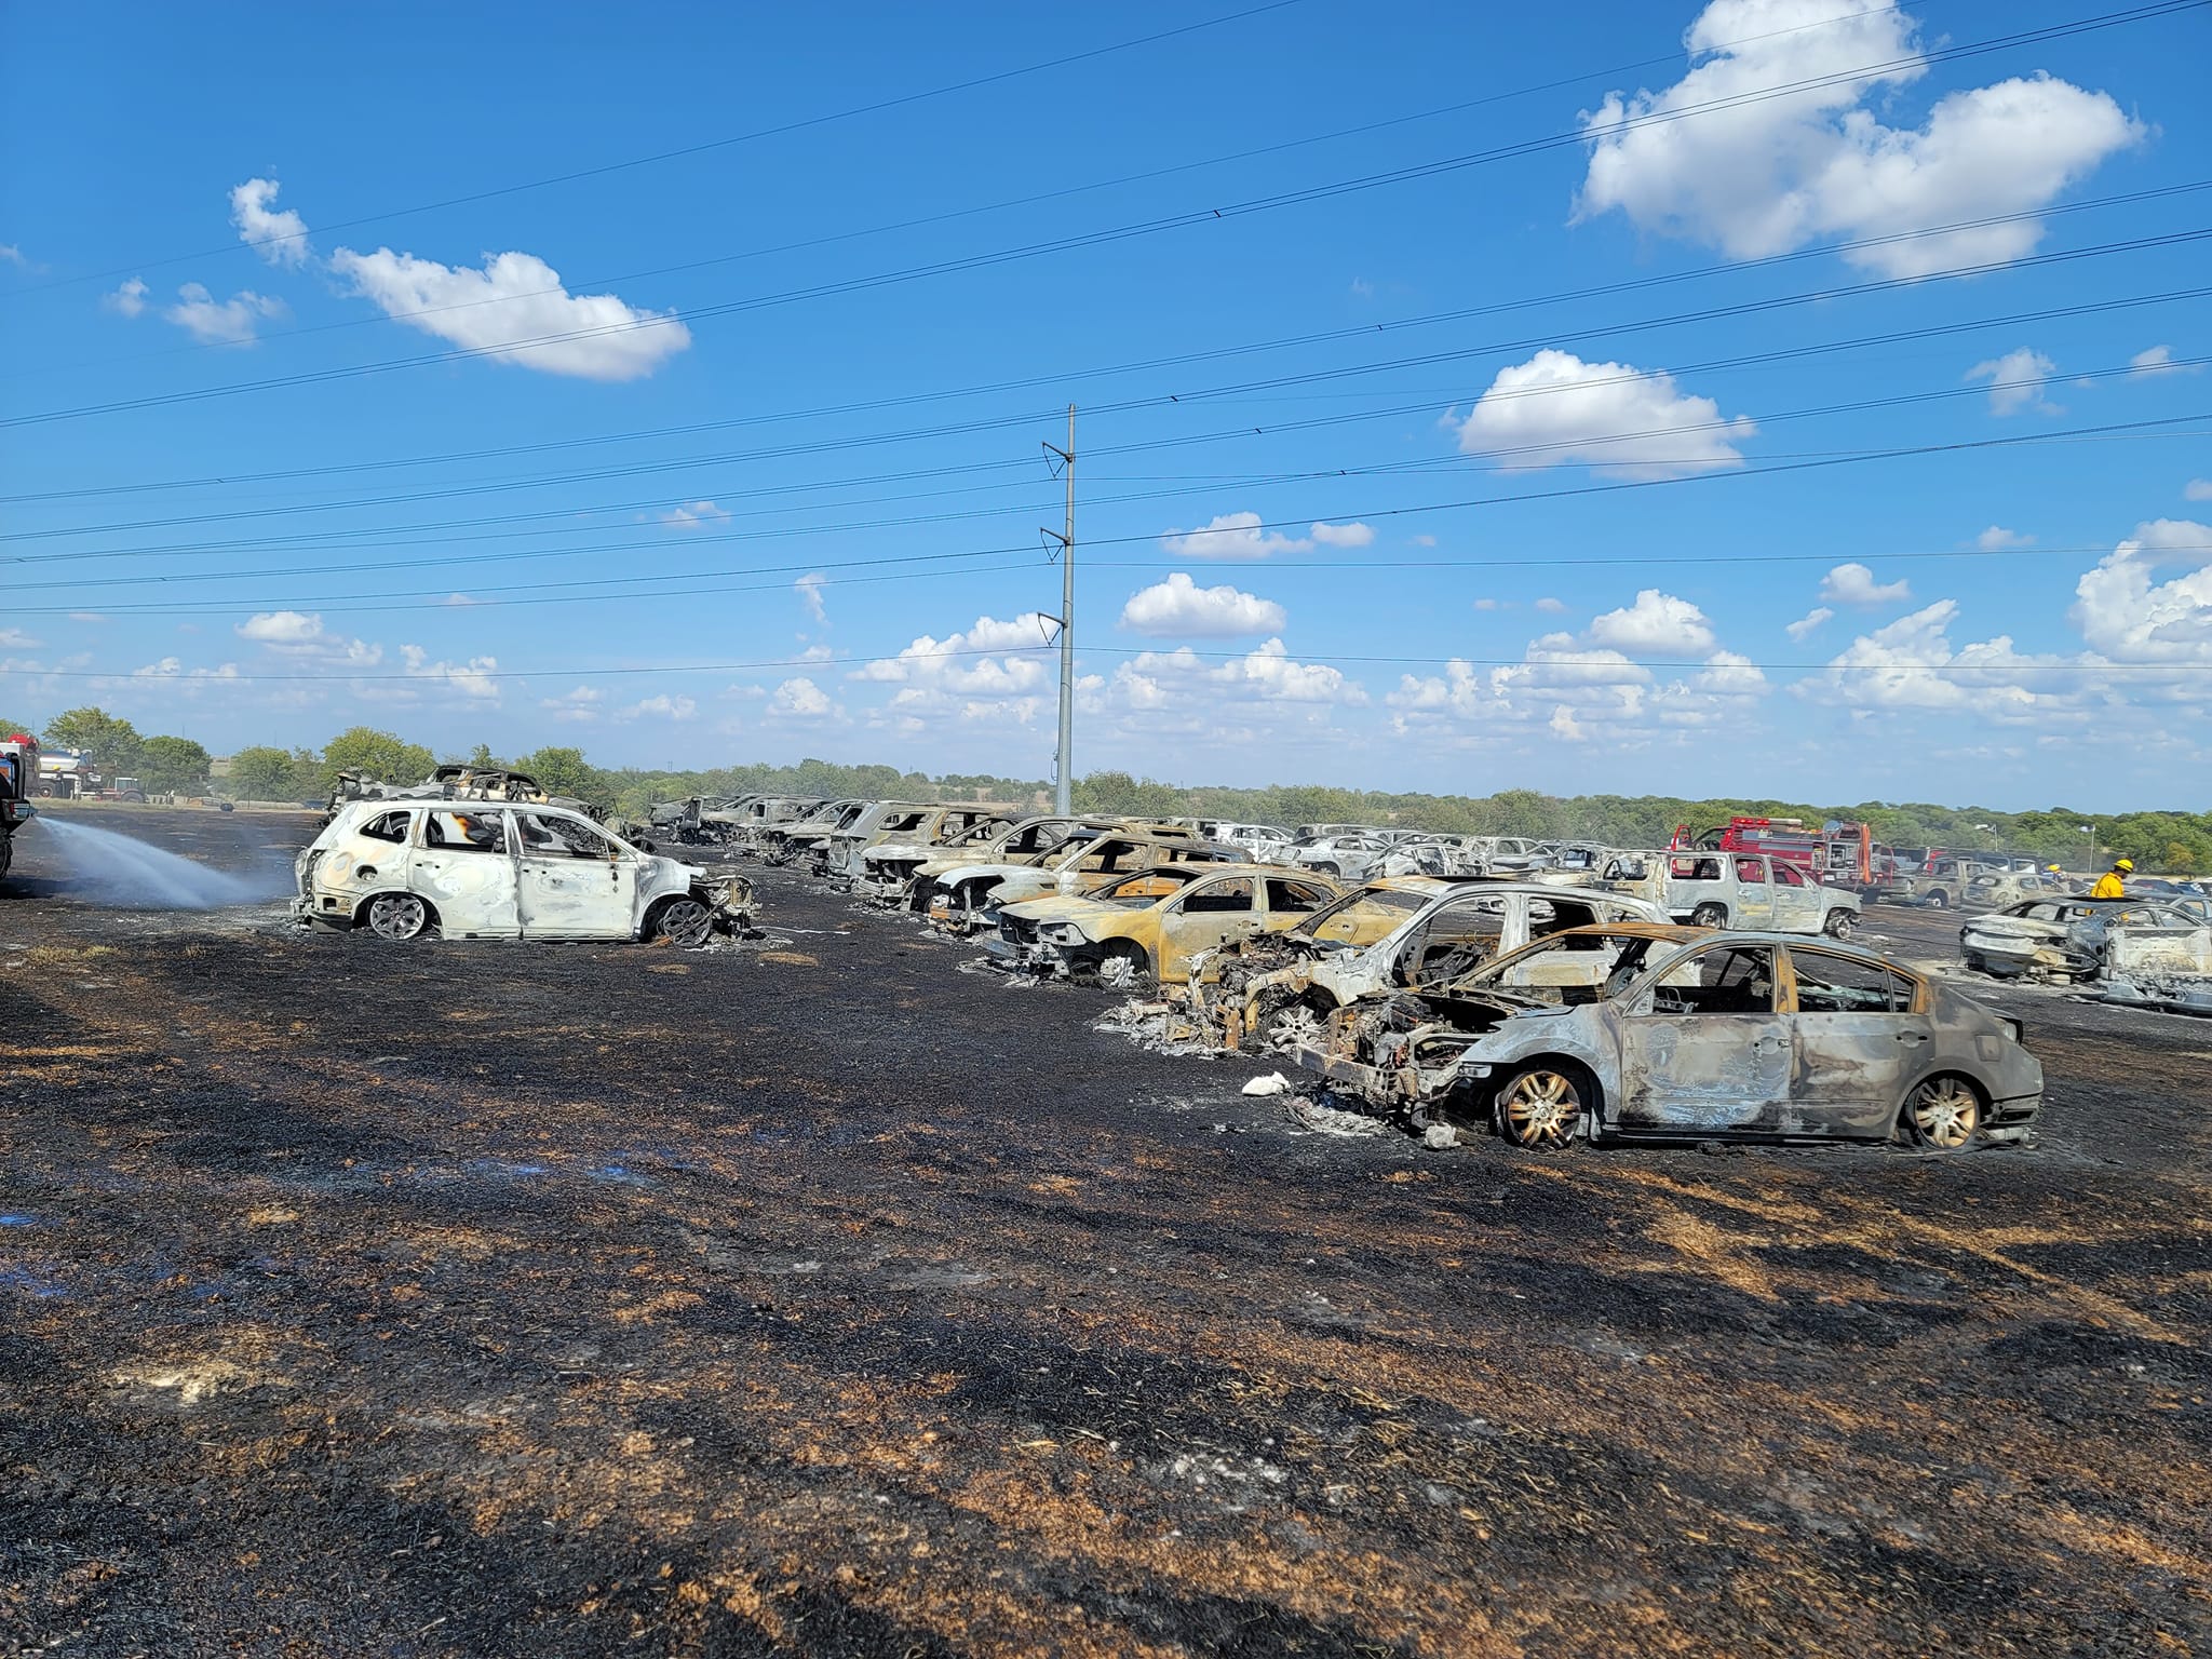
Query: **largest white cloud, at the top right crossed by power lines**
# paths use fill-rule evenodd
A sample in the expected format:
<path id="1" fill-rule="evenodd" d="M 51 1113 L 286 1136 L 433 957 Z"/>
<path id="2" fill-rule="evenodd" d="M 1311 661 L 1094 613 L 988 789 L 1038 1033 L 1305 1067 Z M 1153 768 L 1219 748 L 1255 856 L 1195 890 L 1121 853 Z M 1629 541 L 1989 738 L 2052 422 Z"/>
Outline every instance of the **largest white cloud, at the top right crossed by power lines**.
<path id="1" fill-rule="evenodd" d="M 2110 97 L 2051 75 L 1953 91 L 1922 126 L 1885 126 L 1867 104 L 1927 73 L 1916 20 L 1887 4 L 1834 11 L 1832 0 L 1708 4 L 1683 42 L 1694 66 L 1674 86 L 1610 93 L 1584 119 L 1577 215 L 1619 208 L 1641 230 L 1732 259 L 2006 219 L 1845 252 L 1867 270 L 1924 276 L 2028 254 L 2044 234 L 2033 215 L 2143 137 Z M 1690 108 L 1701 113 L 1666 119 Z"/>

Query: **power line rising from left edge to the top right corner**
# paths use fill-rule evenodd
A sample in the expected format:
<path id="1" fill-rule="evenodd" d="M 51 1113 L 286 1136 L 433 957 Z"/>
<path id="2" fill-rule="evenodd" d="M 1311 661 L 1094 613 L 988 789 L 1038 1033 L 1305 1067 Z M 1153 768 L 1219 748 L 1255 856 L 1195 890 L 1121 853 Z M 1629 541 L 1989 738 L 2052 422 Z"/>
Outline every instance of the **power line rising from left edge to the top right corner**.
<path id="1" fill-rule="evenodd" d="M 1896 60 L 1889 60 L 1885 64 L 1865 64 L 1865 66 L 1858 66 L 1858 69 L 1851 69 L 1851 71 L 1838 71 L 1838 73 L 1832 73 L 1832 75 L 1816 75 L 1816 77 L 1807 77 L 1807 80 L 1801 80 L 1801 82 L 1790 82 L 1790 84 L 1783 84 L 1783 86 L 1761 88 L 1761 91 L 1754 91 L 1754 93 L 1739 93 L 1739 95 L 1730 95 L 1730 97 L 1719 97 L 1719 100 L 1710 100 L 1705 104 L 1688 104 L 1688 106 L 1681 106 L 1681 108 L 1655 111 L 1650 115 L 1641 115 L 1641 117 L 1632 117 L 1632 119 L 1626 119 L 1626 122 L 1617 122 L 1617 124 L 1604 128 L 1604 135 L 1615 135 L 1615 133 L 1626 133 L 1626 131 L 1641 131 L 1646 126 L 1663 126 L 1663 124 L 1672 124 L 1672 122 L 1681 122 L 1681 119 L 1692 119 L 1697 115 L 1708 115 L 1708 113 L 1717 113 L 1717 111 L 1725 111 L 1725 108 L 1741 108 L 1745 104 L 1761 104 L 1761 102 L 1770 102 L 1774 97 L 1787 97 L 1792 93 L 1803 93 L 1803 91 L 1814 91 L 1814 88 L 1820 88 L 1820 86 L 1834 86 L 1834 84 L 1843 84 L 1843 82 L 1865 80 L 1867 75 L 1878 75 L 1878 73 L 1887 71 L 1887 69 L 1902 69 L 1902 66 L 1918 69 L 1918 66 L 1929 64 L 1929 62 L 1973 58 L 1973 55 L 1989 53 L 1989 51 L 2000 51 L 2000 49 L 2006 49 L 2006 46 L 2037 44 L 2037 42 L 2044 42 L 2044 40 L 2057 40 L 2057 38 L 2066 38 L 2066 35 L 2090 33 L 2090 31 L 2097 31 L 2097 29 L 2110 29 L 2110 27 L 2119 27 L 2119 24 L 2126 24 L 2126 22 L 2143 22 L 2143 20 L 2152 20 L 2152 18 L 2163 18 L 2163 15 L 2179 13 L 2179 11 L 2190 11 L 2190 9 L 2197 9 L 2197 7 L 2203 7 L 2203 4 L 2212 4 L 2212 0 L 2157 0 L 2154 4 L 2135 7 L 2130 11 L 2104 13 L 2104 15 L 2077 20 L 2077 22 L 2070 22 L 2070 24 L 2055 24 L 2055 27 L 2048 27 L 2048 29 L 2020 31 L 2020 33 L 2013 33 L 2013 35 L 2002 35 L 2002 38 L 1993 38 L 1993 40 L 1984 40 L 1984 42 L 1973 42 L 1973 44 L 1966 44 L 1966 46 L 1951 46 L 1951 49 L 1938 49 L 1938 51 L 1929 51 L 1929 53 L 1913 53 L 1909 58 L 1896 58 Z M 1051 252 L 1068 252 L 1068 250 L 1075 250 L 1075 248 L 1091 248 L 1091 246 L 1104 246 L 1104 243 L 1110 243 L 1110 241 L 1126 241 L 1126 239 L 1133 239 L 1133 237 L 1148 237 L 1148 234 L 1157 234 L 1157 232 L 1164 232 L 1164 230 L 1177 230 L 1177 228 L 1188 228 L 1188 226 L 1214 223 L 1214 221 L 1248 217 L 1248 215 L 1256 215 L 1256 212 L 1272 212 L 1276 208 L 1303 206 L 1303 204 L 1310 204 L 1310 201 L 1325 201 L 1325 199 L 1332 199 L 1332 197 L 1340 197 L 1340 195 L 1349 195 L 1349 192 L 1358 192 L 1358 190 L 1371 190 L 1371 188 L 1380 188 L 1380 186 L 1387 186 L 1387 184 L 1407 184 L 1407 181 L 1416 181 L 1416 179 L 1440 177 L 1444 173 L 1455 173 L 1455 170 L 1471 168 L 1471 166 L 1484 166 L 1489 161 L 1513 159 L 1513 157 L 1520 157 L 1520 155 L 1535 155 L 1540 150 L 1551 150 L 1551 148 L 1559 148 L 1559 146 L 1566 146 L 1566 144 L 1584 144 L 1590 137 L 1597 137 L 1597 133 L 1593 133 L 1590 128 L 1575 128 L 1571 133 L 1555 133 L 1555 135 L 1540 137 L 1540 139 L 1522 139 L 1517 144 L 1506 144 L 1506 146 L 1498 146 L 1498 148 L 1491 148 L 1491 150 L 1475 150 L 1471 155 L 1447 157 L 1442 161 L 1427 161 L 1427 164 L 1418 164 L 1418 166 L 1409 166 L 1409 168 L 1396 168 L 1396 170 L 1387 170 L 1387 173 L 1363 175 L 1363 177 L 1356 177 L 1356 179 L 1343 179 L 1343 181 L 1325 184 L 1325 186 L 1307 186 L 1303 190 L 1279 192 L 1279 195 L 1272 195 L 1272 197 L 1256 197 L 1256 199 L 1250 199 L 1250 201 L 1228 204 L 1228 206 L 1219 206 L 1219 208 L 1201 208 L 1201 210 L 1192 210 L 1192 212 L 1168 215 L 1168 217 L 1161 217 L 1161 219 L 1139 221 L 1139 223 L 1130 223 L 1130 226 L 1117 226 L 1117 228 L 1099 230 L 1099 232 L 1084 232 L 1084 234 L 1077 234 L 1077 237 L 1048 239 L 1048 241 L 1029 243 L 1029 246 L 1022 246 L 1022 248 L 1009 248 L 1009 250 L 1000 250 L 1000 252 L 991 252 L 991 254 L 971 254 L 971 257 L 962 257 L 962 259 L 936 261 L 936 263 L 929 263 L 929 265 L 914 265 L 914 268 L 905 268 L 905 270 L 896 270 L 896 272 L 880 272 L 880 274 L 874 274 L 874 276 L 858 276 L 858 279 L 845 279 L 845 281 L 834 281 L 834 283 L 818 283 L 814 288 L 790 290 L 790 292 L 783 292 L 783 294 L 761 294 L 761 296 L 741 299 L 741 301 L 723 301 L 723 303 L 717 303 L 717 305 L 706 305 L 706 307 L 692 310 L 690 319 L 697 321 L 697 319 L 706 319 L 706 316 L 730 316 L 730 314 L 737 314 L 737 312 L 759 310 L 759 307 L 765 307 L 765 305 L 785 305 L 785 303 L 794 303 L 794 301 L 801 301 L 801 299 L 823 299 L 823 296 L 832 296 L 832 294 L 849 294 L 849 292 L 860 292 L 860 290 L 869 290 L 869 288 L 883 288 L 883 285 L 889 285 L 889 283 L 918 281 L 918 279 L 925 279 L 925 276 L 945 276 L 945 274 L 958 274 L 958 272 L 967 272 L 967 270 L 982 270 L 987 265 L 1013 263 L 1013 261 L 1020 261 L 1020 259 L 1035 259 L 1035 257 L 1051 254 Z M 208 398 L 230 398 L 230 396 L 241 396 L 241 394 L 248 394 L 248 392 L 268 392 L 268 389 L 296 387 L 296 385 L 323 385 L 323 383 L 332 383 L 332 380 L 358 378 L 358 376 L 365 376 L 365 374 L 387 374 L 387 372 L 405 369 L 405 367 L 422 367 L 422 365 L 431 365 L 431 363 L 456 363 L 456 361 L 478 358 L 478 356 L 504 358 L 504 356 L 515 356 L 518 352 L 526 352 L 526 349 L 533 349 L 533 347 L 540 347 L 540 345 L 560 345 L 560 343 L 571 343 L 571 341 L 582 341 L 582 338 L 602 338 L 602 336 L 608 336 L 608 334 L 633 334 L 633 332 L 644 330 L 644 327 L 666 327 L 666 325 L 670 325 L 675 321 L 681 321 L 681 319 L 677 319 L 677 316 L 648 316 L 644 321 L 608 323 L 608 325 L 597 325 L 597 327 L 586 327 L 586 330 L 566 330 L 566 332 L 560 332 L 560 334 L 546 334 L 546 336 L 535 336 L 535 338 L 524 338 L 524 341 L 507 341 L 507 343 L 487 345 L 487 347 L 460 347 L 460 349 L 451 349 L 451 352 L 429 352 L 429 354 L 409 356 L 409 358 L 387 358 L 387 361 L 380 361 L 380 363 L 363 363 L 363 365 L 347 365 L 347 367 L 334 367 L 334 369 L 312 369 L 312 372 L 303 372 L 303 374 L 272 376 L 272 378 L 263 378 L 263 380 L 243 380 L 243 383 L 234 383 L 234 385 L 226 385 L 226 387 L 195 387 L 195 389 L 188 389 L 188 392 L 150 394 L 150 396 L 142 396 L 142 398 L 119 398 L 119 400 L 100 403 L 100 405 L 82 405 L 82 407 L 75 407 L 75 409 L 46 409 L 46 411 L 31 414 L 31 416 L 11 416 L 7 420 L 0 420 L 0 427 L 46 425 L 46 422 L 53 422 L 53 420 L 77 420 L 77 418 L 97 416 L 97 414 L 119 414 L 119 411 L 131 411 L 131 409 L 150 409 L 150 407 L 168 407 L 168 405 L 179 405 L 179 403 L 199 403 L 199 400 L 208 400 Z"/>

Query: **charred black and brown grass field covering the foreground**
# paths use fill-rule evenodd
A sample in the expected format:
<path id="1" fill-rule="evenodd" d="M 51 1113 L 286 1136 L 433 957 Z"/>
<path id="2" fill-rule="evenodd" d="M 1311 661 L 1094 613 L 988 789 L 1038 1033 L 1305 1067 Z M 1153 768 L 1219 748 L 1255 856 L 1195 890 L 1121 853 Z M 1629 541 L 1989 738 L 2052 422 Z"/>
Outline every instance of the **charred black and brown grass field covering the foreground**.
<path id="1" fill-rule="evenodd" d="M 774 872 L 684 953 L 46 858 L 0 1650 L 2212 1650 L 2208 1022 L 1993 993 L 2026 1152 L 1433 1152 Z"/>

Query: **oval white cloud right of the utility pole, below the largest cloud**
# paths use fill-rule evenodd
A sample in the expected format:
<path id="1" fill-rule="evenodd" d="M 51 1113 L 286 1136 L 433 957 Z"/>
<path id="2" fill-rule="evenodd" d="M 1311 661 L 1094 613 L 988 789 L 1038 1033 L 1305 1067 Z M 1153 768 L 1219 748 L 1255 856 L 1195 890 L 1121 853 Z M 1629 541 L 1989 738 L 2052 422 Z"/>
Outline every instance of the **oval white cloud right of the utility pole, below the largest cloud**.
<path id="1" fill-rule="evenodd" d="M 1460 449 L 1500 456 L 1506 471 L 1579 460 L 1608 478 L 1683 478 L 1743 465 L 1734 445 L 1754 431 L 1712 398 L 1677 392 L 1670 374 L 1546 347 L 1498 372 L 1460 422 Z"/>

